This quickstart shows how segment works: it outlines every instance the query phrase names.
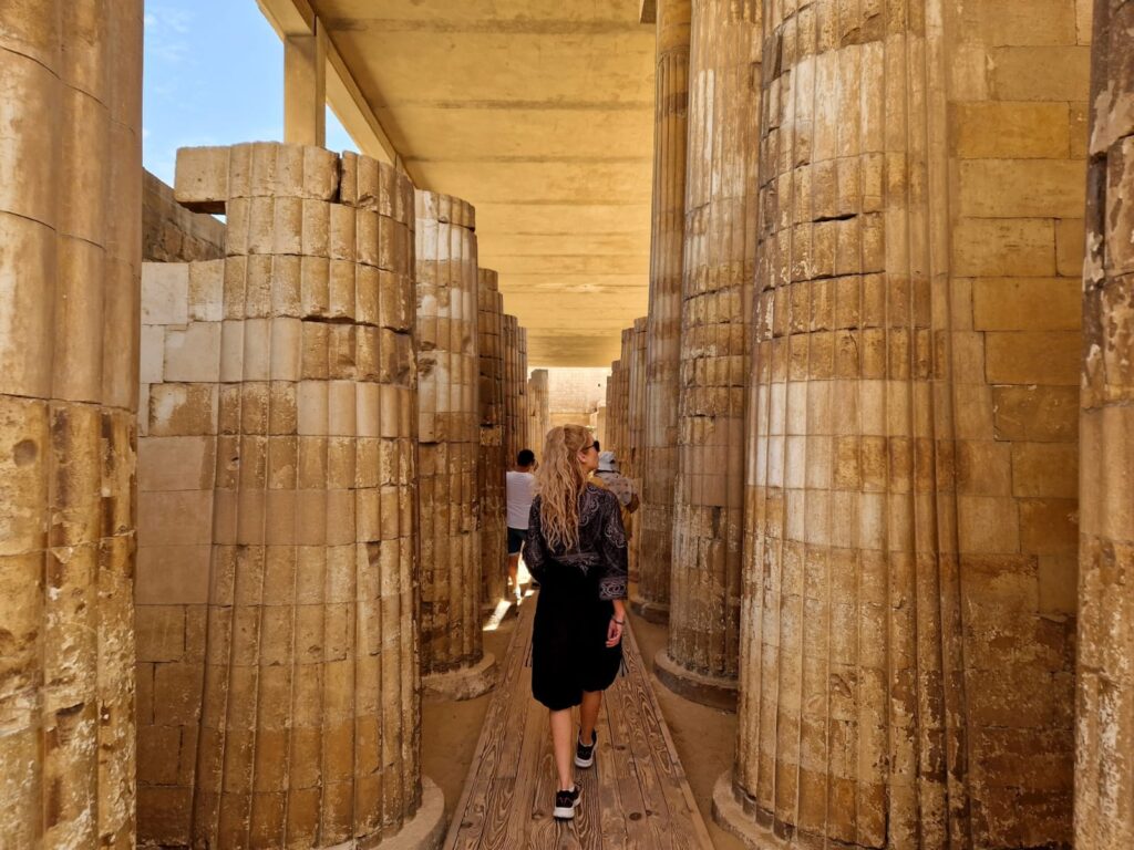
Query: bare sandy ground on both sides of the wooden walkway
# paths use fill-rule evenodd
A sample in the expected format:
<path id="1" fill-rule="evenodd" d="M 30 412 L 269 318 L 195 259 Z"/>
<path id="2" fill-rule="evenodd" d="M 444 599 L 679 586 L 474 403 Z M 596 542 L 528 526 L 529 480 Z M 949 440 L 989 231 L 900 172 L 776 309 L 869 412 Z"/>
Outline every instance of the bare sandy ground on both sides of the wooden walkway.
<path id="1" fill-rule="evenodd" d="M 534 604 L 531 598 L 526 602 Z M 498 662 L 508 651 L 515 624 L 516 619 L 508 618 L 500 628 L 484 632 L 484 649 Z M 652 670 L 653 656 L 666 645 L 666 628 L 637 617 L 632 618 L 632 624 L 642 656 Z M 736 715 L 683 699 L 652 675 L 651 681 L 713 845 L 717 850 L 744 850 L 744 844 L 712 819 L 713 784 L 733 764 Z M 491 698 L 490 692 L 464 703 L 426 700 L 422 706 L 422 770 L 445 792 L 447 821 L 460 799 Z"/>

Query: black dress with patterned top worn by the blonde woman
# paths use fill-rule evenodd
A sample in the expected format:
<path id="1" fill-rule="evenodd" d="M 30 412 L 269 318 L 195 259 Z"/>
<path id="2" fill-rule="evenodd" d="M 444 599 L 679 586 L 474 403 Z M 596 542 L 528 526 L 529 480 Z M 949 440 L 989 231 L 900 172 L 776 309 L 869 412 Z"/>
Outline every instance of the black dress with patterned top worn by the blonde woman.
<path id="1" fill-rule="evenodd" d="M 532 632 L 532 696 L 552 711 L 578 705 L 584 690 L 604 690 L 618 675 L 621 641 L 607 647 L 615 606 L 626 596 L 626 532 L 618 498 L 587 484 L 578 502 L 578 545 L 548 546 L 532 501 L 524 563 L 540 583 Z"/>

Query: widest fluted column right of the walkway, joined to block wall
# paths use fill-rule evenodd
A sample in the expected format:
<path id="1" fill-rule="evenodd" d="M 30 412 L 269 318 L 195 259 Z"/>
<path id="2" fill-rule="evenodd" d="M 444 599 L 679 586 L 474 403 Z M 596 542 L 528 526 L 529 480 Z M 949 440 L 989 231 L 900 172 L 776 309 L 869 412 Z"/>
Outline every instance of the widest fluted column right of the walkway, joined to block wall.
<path id="1" fill-rule="evenodd" d="M 750 845 L 1025 845 L 974 843 L 967 797 L 926 6 L 764 6 L 738 747 L 714 792 Z"/>

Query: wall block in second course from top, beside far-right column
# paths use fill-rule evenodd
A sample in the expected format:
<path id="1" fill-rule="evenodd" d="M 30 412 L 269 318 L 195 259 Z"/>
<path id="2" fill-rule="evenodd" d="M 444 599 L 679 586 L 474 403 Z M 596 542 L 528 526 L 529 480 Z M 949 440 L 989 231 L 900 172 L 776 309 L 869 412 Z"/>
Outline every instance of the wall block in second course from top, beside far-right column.
<path id="1" fill-rule="evenodd" d="M 1002 101 L 1082 101 L 1090 91 L 1088 46 L 1005 46 L 990 51 L 992 94 Z"/>

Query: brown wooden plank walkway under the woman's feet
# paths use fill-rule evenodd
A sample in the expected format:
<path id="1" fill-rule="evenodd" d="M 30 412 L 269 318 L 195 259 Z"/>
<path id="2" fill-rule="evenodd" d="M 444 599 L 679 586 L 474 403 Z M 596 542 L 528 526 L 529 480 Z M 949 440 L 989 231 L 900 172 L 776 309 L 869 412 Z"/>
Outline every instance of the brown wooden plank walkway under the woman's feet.
<path id="1" fill-rule="evenodd" d="M 575 768 L 583 789 L 575 819 L 551 817 L 556 779 L 548 711 L 532 698 L 534 613 L 535 598 L 528 597 L 449 826 L 447 850 L 712 850 L 629 629 L 623 638 L 626 673 L 602 700 L 595 764 Z"/>

